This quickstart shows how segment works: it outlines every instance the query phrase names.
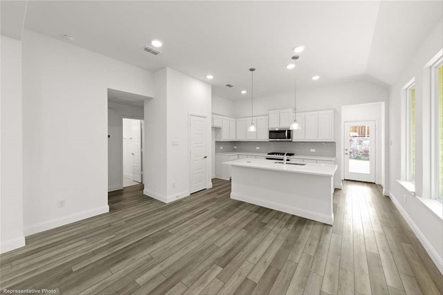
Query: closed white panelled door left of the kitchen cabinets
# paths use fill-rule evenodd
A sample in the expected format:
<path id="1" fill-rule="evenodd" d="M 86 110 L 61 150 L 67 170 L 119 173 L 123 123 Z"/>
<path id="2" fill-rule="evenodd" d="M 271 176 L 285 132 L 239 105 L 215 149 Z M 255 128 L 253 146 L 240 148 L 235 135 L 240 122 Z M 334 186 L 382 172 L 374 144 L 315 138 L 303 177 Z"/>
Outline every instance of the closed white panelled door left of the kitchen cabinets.
<path id="1" fill-rule="evenodd" d="M 206 117 L 190 116 L 190 193 L 206 189 Z"/>

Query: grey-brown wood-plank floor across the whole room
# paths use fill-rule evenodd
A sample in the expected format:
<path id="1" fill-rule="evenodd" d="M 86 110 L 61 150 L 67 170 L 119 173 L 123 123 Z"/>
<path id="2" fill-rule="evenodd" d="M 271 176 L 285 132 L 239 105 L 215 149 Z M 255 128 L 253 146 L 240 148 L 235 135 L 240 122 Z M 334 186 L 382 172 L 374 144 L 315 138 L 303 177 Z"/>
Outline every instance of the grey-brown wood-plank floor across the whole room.
<path id="1" fill-rule="evenodd" d="M 443 292 L 442 275 L 374 184 L 336 190 L 334 226 L 230 200 L 230 182 L 213 184 L 171 204 L 143 196 L 141 186 L 109 193 L 109 213 L 29 236 L 1 255 L 1 292 Z"/>

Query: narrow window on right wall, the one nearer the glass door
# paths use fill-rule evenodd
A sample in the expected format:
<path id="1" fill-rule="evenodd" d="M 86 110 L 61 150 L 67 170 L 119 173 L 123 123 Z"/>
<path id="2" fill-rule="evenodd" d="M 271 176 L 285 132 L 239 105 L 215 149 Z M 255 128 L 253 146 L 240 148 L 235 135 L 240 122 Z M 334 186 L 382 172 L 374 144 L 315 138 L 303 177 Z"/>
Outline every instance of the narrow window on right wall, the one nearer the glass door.
<path id="1" fill-rule="evenodd" d="M 406 88 L 406 180 L 415 182 L 415 83 Z"/>

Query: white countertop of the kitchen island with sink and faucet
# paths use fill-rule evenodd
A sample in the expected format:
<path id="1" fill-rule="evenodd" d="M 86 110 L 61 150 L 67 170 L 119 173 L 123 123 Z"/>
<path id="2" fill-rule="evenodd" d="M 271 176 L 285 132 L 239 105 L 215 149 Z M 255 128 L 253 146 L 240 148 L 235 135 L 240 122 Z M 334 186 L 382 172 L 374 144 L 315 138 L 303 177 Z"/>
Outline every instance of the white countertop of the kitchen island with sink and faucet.
<path id="1" fill-rule="evenodd" d="M 334 173 L 337 170 L 337 165 L 332 165 L 332 164 L 303 163 L 305 165 L 291 165 L 291 164 L 285 165 L 280 162 L 275 163 L 274 161 L 271 160 L 251 159 L 251 158 L 228 161 L 224 162 L 223 164 L 232 165 L 232 166 L 251 167 L 256 169 L 268 169 L 275 171 L 286 171 L 290 173 L 304 173 L 304 174 L 323 175 L 323 176 L 334 176 Z"/>

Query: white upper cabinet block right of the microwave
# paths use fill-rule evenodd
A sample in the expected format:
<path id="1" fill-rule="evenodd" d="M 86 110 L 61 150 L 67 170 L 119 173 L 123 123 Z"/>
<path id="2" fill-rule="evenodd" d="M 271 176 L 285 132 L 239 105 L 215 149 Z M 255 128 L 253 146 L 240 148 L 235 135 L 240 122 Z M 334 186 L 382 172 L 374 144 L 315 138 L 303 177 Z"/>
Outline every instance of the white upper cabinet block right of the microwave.
<path id="1" fill-rule="evenodd" d="M 302 130 L 293 131 L 293 141 L 333 142 L 334 110 L 297 113 Z"/>

